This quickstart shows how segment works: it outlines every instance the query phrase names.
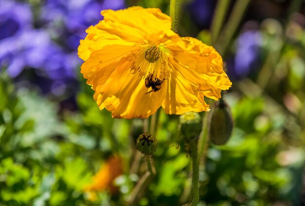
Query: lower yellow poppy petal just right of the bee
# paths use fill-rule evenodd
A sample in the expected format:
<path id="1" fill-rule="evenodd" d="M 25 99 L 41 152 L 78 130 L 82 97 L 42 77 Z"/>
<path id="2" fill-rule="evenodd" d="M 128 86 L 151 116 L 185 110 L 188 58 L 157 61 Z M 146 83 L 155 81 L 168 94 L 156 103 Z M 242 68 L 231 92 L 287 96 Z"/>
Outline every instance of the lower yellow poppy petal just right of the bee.
<path id="1" fill-rule="evenodd" d="M 167 114 L 209 111 L 198 87 L 193 86 L 177 71 L 173 70 L 168 81 L 167 94 L 162 107 Z"/>

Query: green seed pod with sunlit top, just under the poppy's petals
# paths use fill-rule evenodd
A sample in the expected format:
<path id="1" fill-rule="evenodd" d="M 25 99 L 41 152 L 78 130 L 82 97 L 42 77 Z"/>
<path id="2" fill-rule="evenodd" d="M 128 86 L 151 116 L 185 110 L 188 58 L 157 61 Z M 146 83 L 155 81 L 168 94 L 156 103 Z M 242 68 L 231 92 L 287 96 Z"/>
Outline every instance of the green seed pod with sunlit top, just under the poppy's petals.
<path id="1" fill-rule="evenodd" d="M 182 114 L 179 119 L 180 131 L 186 141 L 191 141 L 199 137 L 202 131 L 202 118 L 196 112 Z"/>

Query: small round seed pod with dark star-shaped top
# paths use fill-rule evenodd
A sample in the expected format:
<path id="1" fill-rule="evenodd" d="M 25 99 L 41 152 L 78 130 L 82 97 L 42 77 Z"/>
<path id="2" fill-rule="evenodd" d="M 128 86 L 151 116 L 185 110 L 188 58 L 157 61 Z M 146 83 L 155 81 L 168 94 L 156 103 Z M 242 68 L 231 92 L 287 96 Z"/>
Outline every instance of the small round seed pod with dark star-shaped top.
<path id="1" fill-rule="evenodd" d="M 144 155 L 151 155 L 157 149 L 157 140 L 150 133 L 140 134 L 135 148 Z"/>

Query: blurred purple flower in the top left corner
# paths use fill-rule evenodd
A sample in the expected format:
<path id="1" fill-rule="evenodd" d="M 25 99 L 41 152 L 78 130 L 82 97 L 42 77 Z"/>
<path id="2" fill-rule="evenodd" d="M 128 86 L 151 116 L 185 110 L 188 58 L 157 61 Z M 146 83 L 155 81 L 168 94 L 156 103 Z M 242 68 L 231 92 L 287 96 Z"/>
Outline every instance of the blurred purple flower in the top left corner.
<path id="1" fill-rule="evenodd" d="M 32 12 L 29 4 L 0 1 L 0 41 L 31 27 Z"/>

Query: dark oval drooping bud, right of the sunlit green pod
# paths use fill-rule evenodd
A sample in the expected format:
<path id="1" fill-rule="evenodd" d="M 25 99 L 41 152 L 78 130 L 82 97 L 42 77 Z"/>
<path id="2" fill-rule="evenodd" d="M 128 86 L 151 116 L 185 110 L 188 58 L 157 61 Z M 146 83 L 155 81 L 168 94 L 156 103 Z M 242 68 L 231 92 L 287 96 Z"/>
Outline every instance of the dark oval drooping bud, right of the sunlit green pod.
<path id="1" fill-rule="evenodd" d="M 209 121 L 211 142 L 215 145 L 226 144 L 231 136 L 233 125 L 233 118 L 228 104 L 222 99 L 215 102 Z"/>

